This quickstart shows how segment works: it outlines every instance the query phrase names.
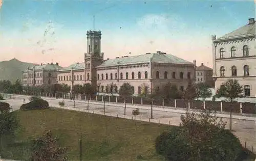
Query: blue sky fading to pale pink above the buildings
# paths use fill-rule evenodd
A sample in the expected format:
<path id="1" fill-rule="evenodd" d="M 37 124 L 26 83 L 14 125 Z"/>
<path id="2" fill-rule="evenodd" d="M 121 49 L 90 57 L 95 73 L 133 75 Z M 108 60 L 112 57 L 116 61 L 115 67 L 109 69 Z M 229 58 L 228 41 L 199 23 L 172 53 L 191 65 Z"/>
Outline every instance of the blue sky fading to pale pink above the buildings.
<path id="1" fill-rule="evenodd" d="M 83 62 L 94 26 L 104 59 L 163 51 L 212 67 L 211 35 L 247 24 L 255 9 L 255 0 L 0 0 L 0 61 Z"/>

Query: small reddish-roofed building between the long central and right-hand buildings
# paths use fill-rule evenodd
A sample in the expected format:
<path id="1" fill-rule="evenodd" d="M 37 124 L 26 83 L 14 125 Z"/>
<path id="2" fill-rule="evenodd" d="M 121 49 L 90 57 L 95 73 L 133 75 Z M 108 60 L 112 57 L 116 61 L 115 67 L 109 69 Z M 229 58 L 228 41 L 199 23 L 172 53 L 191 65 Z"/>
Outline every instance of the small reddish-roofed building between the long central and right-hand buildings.
<path id="1" fill-rule="evenodd" d="M 214 87 L 214 79 L 212 78 L 212 69 L 205 66 L 196 67 L 196 83 L 205 83 L 210 87 Z"/>

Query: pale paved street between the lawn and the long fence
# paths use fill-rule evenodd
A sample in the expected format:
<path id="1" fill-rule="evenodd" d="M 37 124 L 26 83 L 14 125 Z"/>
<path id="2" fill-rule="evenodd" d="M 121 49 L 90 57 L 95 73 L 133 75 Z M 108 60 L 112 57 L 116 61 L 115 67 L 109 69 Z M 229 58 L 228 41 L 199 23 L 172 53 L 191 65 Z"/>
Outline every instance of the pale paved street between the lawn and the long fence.
<path id="1" fill-rule="evenodd" d="M 23 98 L 26 98 L 26 102 L 28 102 L 29 96 L 19 96 L 16 95 L 15 99 L 13 97 L 10 99 L 7 98 L 5 102 L 10 103 L 12 106 L 12 110 L 18 110 L 20 105 L 23 104 Z M 42 97 L 44 98 L 44 97 Z M 126 108 L 126 115 L 123 115 L 124 112 L 124 104 L 116 104 L 116 103 L 108 103 L 105 102 L 105 114 L 103 113 L 103 102 L 93 102 L 90 101 L 89 103 L 89 111 L 87 110 L 87 101 L 84 100 L 76 100 L 74 108 L 74 101 L 64 99 L 65 106 L 60 107 L 58 105 L 59 101 L 62 99 L 55 99 L 55 98 L 44 98 L 49 102 L 50 106 L 54 106 L 56 108 L 63 108 L 67 110 L 75 110 L 81 112 L 89 112 L 89 113 L 96 113 L 100 115 L 108 115 L 112 117 L 120 117 L 126 119 L 136 119 L 142 121 L 150 121 L 155 123 L 161 124 L 170 124 L 170 125 L 179 125 L 180 124 L 180 116 L 185 113 L 184 110 L 174 110 L 174 109 L 164 109 L 164 108 L 156 108 L 153 107 L 153 118 L 151 118 L 151 107 L 150 106 L 141 106 L 141 105 L 131 105 L 127 104 Z M 132 111 L 135 108 L 140 109 L 140 115 L 133 116 Z M 226 117 L 223 118 L 224 121 L 227 122 L 226 128 L 229 128 L 229 115 L 226 114 L 218 114 L 218 117 Z M 246 147 L 251 149 L 251 146 L 256 148 L 256 121 L 253 117 L 246 117 L 246 116 L 233 116 L 237 119 L 232 119 L 232 129 L 234 130 L 233 133 L 236 135 L 242 145 L 246 142 Z M 247 119 L 247 120 L 246 120 Z"/>

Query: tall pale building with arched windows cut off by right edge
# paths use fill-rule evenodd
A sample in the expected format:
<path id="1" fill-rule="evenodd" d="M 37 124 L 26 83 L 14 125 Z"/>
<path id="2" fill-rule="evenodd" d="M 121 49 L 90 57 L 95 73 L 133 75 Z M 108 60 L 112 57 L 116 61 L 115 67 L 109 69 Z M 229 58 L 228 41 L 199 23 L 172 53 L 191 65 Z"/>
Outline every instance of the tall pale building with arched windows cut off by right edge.
<path id="1" fill-rule="evenodd" d="M 215 88 L 229 78 L 236 78 L 245 96 L 256 96 L 255 20 L 218 39 L 212 35 L 213 76 Z"/>

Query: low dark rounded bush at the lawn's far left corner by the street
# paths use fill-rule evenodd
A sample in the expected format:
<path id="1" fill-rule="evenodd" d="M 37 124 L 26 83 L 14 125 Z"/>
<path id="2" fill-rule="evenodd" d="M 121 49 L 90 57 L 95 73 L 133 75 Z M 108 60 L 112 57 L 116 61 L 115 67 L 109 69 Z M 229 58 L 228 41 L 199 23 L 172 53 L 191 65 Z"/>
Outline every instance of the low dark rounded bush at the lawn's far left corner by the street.
<path id="1" fill-rule="evenodd" d="M 36 110 L 36 109 L 48 109 L 49 103 L 41 98 L 32 99 L 32 101 L 20 106 L 20 110 Z"/>

